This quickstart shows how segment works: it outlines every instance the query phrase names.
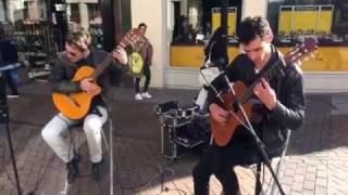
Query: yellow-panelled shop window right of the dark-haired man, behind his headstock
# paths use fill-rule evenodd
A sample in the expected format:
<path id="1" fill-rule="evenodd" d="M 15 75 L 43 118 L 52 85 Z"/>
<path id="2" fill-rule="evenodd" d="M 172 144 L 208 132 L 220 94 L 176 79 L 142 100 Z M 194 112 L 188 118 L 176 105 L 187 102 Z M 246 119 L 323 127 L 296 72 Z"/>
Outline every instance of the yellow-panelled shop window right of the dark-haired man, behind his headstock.
<path id="1" fill-rule="evenodd" d="M 290 47 L 312 37 L 319 50 L 303 70 L 348 70 L 348 1 L 269 0 L 268 20 L 275 44 L 287 52 Z"/>

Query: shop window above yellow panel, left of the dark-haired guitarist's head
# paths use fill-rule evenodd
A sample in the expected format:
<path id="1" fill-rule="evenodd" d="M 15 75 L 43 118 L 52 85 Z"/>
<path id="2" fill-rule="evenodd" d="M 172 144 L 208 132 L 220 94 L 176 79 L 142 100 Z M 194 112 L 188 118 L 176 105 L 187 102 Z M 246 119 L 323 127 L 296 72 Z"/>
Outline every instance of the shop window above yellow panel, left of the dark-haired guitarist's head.
<path id="1" fill-rule="evenodd" d="M 236 42 L 236 26 L 240 18 L 241 1 L 228 1 L 228 38 Z M 220 26 L 221 0 L 172 0 L 169 8 L 169 28 L 174 44 L 201 44 Z"/>

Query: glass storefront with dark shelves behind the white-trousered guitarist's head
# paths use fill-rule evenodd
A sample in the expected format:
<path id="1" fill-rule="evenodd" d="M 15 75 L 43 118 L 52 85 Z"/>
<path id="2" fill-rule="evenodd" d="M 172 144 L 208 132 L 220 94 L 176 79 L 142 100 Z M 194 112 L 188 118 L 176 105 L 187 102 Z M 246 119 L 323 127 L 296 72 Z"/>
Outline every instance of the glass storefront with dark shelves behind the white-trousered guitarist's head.
<path id="1" fill-rule="evenodd" d="M 101 15 L 98 1 L 69 3 L 65 0 L 0 1 L 0 22 L 7 38 L 28 64 L 28 77 L 46 77 L 57 53 L 64 50 L 70 27 L 88 27 L 96 48 L 102 48 Z"/>

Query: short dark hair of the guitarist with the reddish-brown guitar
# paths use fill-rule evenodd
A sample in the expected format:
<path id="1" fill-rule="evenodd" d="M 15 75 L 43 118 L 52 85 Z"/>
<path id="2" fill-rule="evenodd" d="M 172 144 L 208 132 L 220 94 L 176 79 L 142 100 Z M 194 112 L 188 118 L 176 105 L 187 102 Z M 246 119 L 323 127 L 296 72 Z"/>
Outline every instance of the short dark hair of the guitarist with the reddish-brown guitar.
<path id="1" fill-rule="evenodd" d="M 257 36 L 264 39 L 270 34 L 270 23 L 261 16 L 254 16 L 243 20 L 237 36 L 240 43 L 249 44 Z"/>

